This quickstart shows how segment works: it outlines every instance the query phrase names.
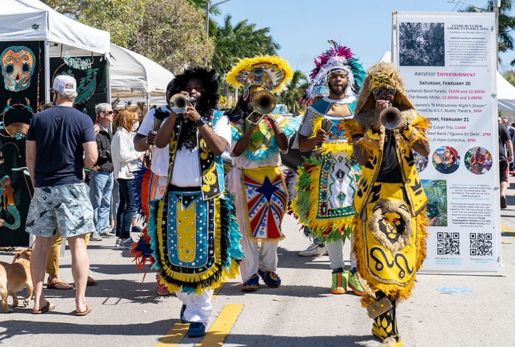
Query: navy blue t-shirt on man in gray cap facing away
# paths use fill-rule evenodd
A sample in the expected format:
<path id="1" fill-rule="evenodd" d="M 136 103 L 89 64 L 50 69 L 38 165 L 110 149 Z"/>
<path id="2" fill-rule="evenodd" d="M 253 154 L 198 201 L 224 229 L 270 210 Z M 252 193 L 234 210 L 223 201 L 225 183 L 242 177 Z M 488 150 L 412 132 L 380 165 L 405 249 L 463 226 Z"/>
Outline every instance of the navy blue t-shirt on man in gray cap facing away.
<path id="1" fill-rule="evenodd" d="M 82 144 L 95 142 L 89 116 L 72 107 L 51 107 L 32 118 L 27 140 L 36 141 L 36 187 L 84 182 Z"/>

